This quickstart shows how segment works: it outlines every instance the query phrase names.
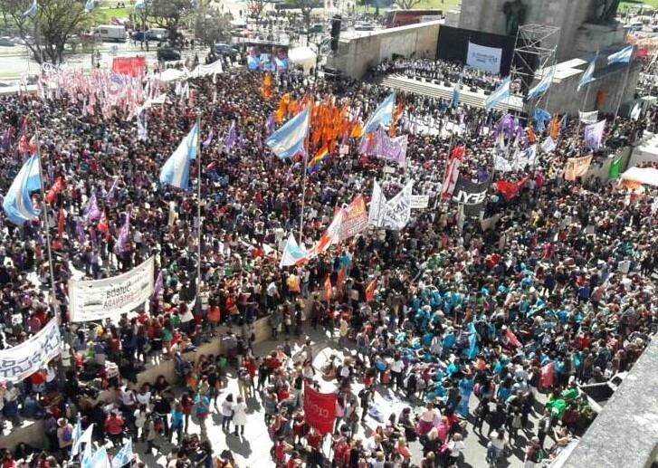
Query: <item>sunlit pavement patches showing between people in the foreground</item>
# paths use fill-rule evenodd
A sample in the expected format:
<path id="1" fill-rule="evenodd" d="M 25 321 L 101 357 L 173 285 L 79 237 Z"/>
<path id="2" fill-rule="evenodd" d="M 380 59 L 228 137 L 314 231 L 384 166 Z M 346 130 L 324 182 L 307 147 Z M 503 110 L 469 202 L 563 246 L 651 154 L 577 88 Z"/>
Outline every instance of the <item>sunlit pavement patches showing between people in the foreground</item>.
<path id="1" fill-rule="evenodd" d="M 339 356 L 348 356 L 350 352 L 349 349 L 340 349 L 338 345 L 338 338 L 329 339 L 328 335 L 318 331 L 307 329 L 305 330 L 309 333 L 308 337 L 312 340 L 313 344 L 313 355 L 314 361 L 313 364 L 316 369 L 321 368 L 330 355 Z M 336 334 L 338 336 L 338 334 Z M 304 343 L 305 339 L 291 339 L 293 344 L 293 356 L 295 352 L 300 350 L 300 345 Z M 256 356 L 265 356 L 267 353 L 276 349 L 277 345 L 281 345 L 281 341 L 272 341 L 268 340 L 262 342 L 254 347 L 254 355 Z M 354 343 L 349 344 L 350 349 L 354 349 Z M 345 353 L 345 354 L 344 354 Z M 237 386 L 237 377 L 235 375 L 235 368 L 228 369 L 227 378 L 224 380 L 225 387 L 222 390 L 217 404 L 221 408 L 221 403 L 224 401 L 224 398 L 229 394 L 233 393 L 234 397 L 238 395 L 238 386 Z M 316 379 L 319 380 L 321 390 L 323 392 L 330 392 L 336 389 L 335 380 L 326 381 L 324 380 L 319 372 L 316 374 Z M 358 394 L 358 391 L 363 387 L 363 385 L 358 381 L 352 385 L 353 393 Z M 386 396 L 386 399 L 385 399 Z M 247 406 L 248 417 L 247 425 L 245 426 L 244 436 L 237 437 L 233 435 L 233 425 L 231 426 L 231 432 L 225 432 L 222 429 L 222 416 L 220 411 L 214 407 L 211 407 L 211 414 L 206 420 L 206 434 L 208 439 L 213 445 L 213 450 L 215 455 L 221 454 L 225 449 L 229 449 L 233 452 L 235 457 L 235 462 L 240 468 L 244 467 L 256 467 L 256 466 L 273 466 L 274 463 L 270 457 L 270 449 L 272 448 L 272 440 L 268 435 L 267 427 L 264 423 L 264 412 L 262 408 L 262 400 L 260 395 L 255 397 L 248 398 Z M 416 410 L 419 410 L 420 402 L 417 402 L 415 405 L 412 405 Z M 477 399 L 475 396 L 471 398 L 471 412 L 477 404 Z M 390 413 L 395 412 L 396 415 L 402 411 L 402 408 L 409 406 L 408 402 L 402 399 L 402 396 L 396 392 L 390 391 L 388 388 L 378 386 L 375 396 L 374 405 L 383 408 L 386 411 L 388 409 L 388 414 L 385 414 L 386 418 Z M 360 414 L 360 410 L 359 410 Z M 537 422 L 537 415 L 533 415 L 530 420 L 534 424 Z M 472 423 L 472 419 L 471 419 Z M 372 417 L 367 416 L 366 422 L 358 426 L 358 437 L 362 440 L 366 440 L 369 435 L 373 433 L 377 425 L 380 425 Z M 488 427 L 485 423 L 483 426 L 483 432 L 486 435 Z M 198 425 L 198 422 L 195 420 L 194 415 L 190 419 L 188 433 L 190 434 L 200 434 L 201 429 Z M 465 439 L 464 443 L 466 444 L 466 450 L 464 451 L 463 456 L 458 462 L 460 468 L 479 468 L 487 466 L 485 462 L 486 455 L 486 444 L 488 440 L 482 435 L 473 433 L 472 424 L 468 424 L 465 430 Z M 500 467 L 510 467 L 510 468 L 521 468 L 523 466 L 523 450 L 526 445 L 526 441 L 533 434 L 520 432 L 519 444 L 512 447 L 512 454 L 506 460 L 501 460 L 498 466 Z M 167 444 L 166 440 L 163 440 L 162 437 L 158 438 L 155 441 L 156 445 L 160 447 L 160 450 L 157 454 L 145 454 L 146 444 L 134 442 L 133 447 L 139 457 L 147 463 L 147 466 L 166 466 L 166 455 L 171 453 L 174 445 Z M 414 463 L 419 464 L 422 459 L 422 447 L 418 442 L 410 444 L 412 449 Z M 110 444 L 108 445 L 110 449 Z M 110 450 L 111 453 L 114 450 Z M 330 443 L 329 437 L 325 442 L 324 453 L 330 454 Z"/>

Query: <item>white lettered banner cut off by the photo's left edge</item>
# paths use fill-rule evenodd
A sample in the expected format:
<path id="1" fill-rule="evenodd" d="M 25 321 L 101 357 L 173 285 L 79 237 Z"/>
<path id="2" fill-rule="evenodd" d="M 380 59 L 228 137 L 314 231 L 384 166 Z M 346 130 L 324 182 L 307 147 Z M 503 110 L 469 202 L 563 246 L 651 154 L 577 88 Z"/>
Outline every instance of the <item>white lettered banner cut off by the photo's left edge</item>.
<path id="1" fill-rule="evenodd" d="M 52 319 L 33 337 L 0 351 L 0 382 L 20 382 L 30 377 L 60 354 L 61 347 L 60 327 Z"/>

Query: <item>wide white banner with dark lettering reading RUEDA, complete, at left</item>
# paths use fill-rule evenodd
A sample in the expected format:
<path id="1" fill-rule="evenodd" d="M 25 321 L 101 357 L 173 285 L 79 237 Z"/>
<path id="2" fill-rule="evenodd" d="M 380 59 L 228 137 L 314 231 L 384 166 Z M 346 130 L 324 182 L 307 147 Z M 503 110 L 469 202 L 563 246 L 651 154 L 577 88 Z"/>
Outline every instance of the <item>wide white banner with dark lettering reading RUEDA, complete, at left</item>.
<path id="1" fill-rule="evenodd" d="M 71 321 L 119 319 L 144 306 L 153 292 L 153 257 L 133 270 L 96 281 L 69 281 Z"/>

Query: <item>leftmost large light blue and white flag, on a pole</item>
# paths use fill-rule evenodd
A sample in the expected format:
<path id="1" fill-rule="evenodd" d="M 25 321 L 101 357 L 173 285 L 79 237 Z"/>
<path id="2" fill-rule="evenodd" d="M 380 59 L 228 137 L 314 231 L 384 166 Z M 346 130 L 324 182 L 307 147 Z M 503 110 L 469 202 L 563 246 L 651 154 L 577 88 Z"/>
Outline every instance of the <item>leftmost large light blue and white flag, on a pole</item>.
<path id="1" fill-rule="evenodd" d="M 41 176 L 39 175 L 39 151 L 25 161 L 21 170 L 14 178 L 14 182 L 7 190 L 3 209 L 5 216 L 14 224 L 24 224 L 39 218 L 40 210 L 32 205 L 30 192 L 41 190 Z"/>

